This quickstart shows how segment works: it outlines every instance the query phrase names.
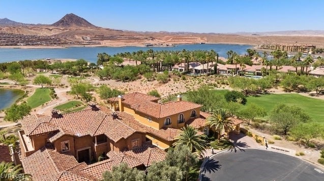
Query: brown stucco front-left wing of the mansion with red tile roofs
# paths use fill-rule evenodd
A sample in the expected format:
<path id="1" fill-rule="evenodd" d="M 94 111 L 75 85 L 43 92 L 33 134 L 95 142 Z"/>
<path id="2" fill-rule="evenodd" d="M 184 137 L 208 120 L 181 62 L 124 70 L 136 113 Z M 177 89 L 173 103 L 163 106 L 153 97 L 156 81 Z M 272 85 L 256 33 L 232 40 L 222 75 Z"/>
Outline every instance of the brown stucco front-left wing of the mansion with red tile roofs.
<path id="1" fill-rule="evenodd" d="M 21 161 L 33 180 L 97 180 L 103 171 L 121 162 L 143 168 L 164 160 L 165 151 L 152 146 L 144 130 L 125 123 L 126 118 L 91 106 L 78 112 L 58 114 L 54 110 L 51 116 L 31 115 L 21 120 Z M 86 164 L 107 153 L 108 160 Z"/>

